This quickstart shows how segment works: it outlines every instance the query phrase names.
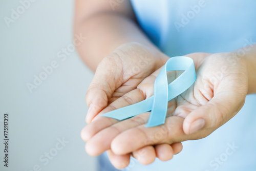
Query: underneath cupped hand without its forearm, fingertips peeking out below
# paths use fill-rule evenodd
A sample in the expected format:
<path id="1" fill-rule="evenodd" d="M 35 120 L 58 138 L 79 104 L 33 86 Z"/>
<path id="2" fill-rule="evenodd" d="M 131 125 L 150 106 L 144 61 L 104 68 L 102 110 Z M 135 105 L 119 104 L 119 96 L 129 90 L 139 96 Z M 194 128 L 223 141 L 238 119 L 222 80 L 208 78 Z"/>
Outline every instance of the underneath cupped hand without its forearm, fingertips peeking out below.
<path id="1" fill-rule="evenodd" d="M 125 94 L 134 90 L 137 91 L 141 81 L 164 65 L 167 60 L 168 57 L 160 51 L 152 48 L 148 49 L 136 42 L 124 44 L 106 56 L 99 63 L 87 92 L 86 101 L 89 106 L 87 123 L 90 123 L 100 111 L 120 97 L 129 102 L 130 97 L 125 96 Z M 120 108 L 120 106 L 117 107 Z M 109 105 L 108 109 L 114 110 L 115 105 Z M 104 124 L 100 123 L 98 128 L 103 129 L 104 127 L 100 127 L 100 125 L 103 126 Z M 82 137 L 84 136 L 82 135 Z M 110 141 L 104 142 L 103 146 L 105 146 L 105 150 L 110 149 Z M 132 156 L 142 164 L 149 164 L 156 157 L 162 161 L 169 160 L 181 149 L 181 143 L 171 145 L 162 143 L 156 146 L 142 147 L 134 151 Z M 98 155 L 100 153 L 91 150 L 89 154 Z M 108 151 L 108 154 L 113 165 L 117 168 L 129 164 L 130 154 L 116 155 L 112 151 Z"/>

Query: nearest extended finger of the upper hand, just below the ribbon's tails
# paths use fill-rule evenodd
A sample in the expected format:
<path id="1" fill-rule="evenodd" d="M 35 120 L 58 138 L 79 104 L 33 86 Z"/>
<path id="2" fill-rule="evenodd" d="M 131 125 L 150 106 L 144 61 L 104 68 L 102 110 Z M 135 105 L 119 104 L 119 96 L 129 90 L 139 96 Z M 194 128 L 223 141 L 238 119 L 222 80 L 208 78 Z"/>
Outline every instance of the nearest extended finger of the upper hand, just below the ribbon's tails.
<path id="1" fill-rule="evenodd" d="M 163 125 L 145 127 L 145 124 L 142 124 L 134 127 L 116 136 L 111 142 L 111 149 L 115 154 L 126 154 L 146 145 L 172 144 L 206 136 L 206 132 L 186 135 L 182 129 L 183 121 L 184 118 L 179 116 L 170 116 Z"/>

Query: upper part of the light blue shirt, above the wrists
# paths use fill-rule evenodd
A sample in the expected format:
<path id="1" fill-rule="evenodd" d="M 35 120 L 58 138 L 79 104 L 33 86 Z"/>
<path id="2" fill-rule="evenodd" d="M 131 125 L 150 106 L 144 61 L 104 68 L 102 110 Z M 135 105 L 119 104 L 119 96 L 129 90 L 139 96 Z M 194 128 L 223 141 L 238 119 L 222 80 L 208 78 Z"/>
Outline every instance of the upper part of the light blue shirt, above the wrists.
<path id="1" fill-rule="evenodd" d="M 171 56 L 256 43 L 256 1 L 132 1 L 143 31 Z"/>

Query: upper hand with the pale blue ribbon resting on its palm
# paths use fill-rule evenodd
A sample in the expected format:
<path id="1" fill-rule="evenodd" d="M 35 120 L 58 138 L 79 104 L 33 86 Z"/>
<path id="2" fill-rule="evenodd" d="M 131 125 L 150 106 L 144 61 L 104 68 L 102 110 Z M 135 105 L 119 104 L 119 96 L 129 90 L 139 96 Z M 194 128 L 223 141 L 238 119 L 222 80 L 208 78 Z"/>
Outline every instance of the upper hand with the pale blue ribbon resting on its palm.
<path id="1" fill-rule="evenodd" d="M 248 89 L 245 59 L 238 57 L 236 53 L 194 53 L 186 56 L 195 61 L 197 80 L 187 91 L 169 101 L 165 124 L 144 127 L 149 112 L 123 121 L 97 116 L 81 133 L 83 140 L 87 141 L 87 152 L 90 155 L 98 155 L 111 149 L 112 154 L 127 155 L 148 145 L 200 139 L 208 136 L 236 115 L 244 104 Z M 149 68 L 148 71 L 152 72 L 154 69 Z M 152 96 L 154 81 L 160 70 L 158 69 L 150 76 L 147 76 L 150 72 L 139 74 L 140 81 L 147 77 L 141 83 L 140 81 L 133 83 L 133 85 L 138 84 L 137 88 L 125 89 L 118 96 L 114 96 L 115 101 L 110 100 L 112 103 L 101 112 L 96 108 L 92 116 L 99 112 L 101 114 L 122 108 Z M 168 79 L 172 81 L 179 74 L 181 72 L 170 72 Z M 110 90 L 114 92 L 115 88 Z M 119 92 L 119 89 L 116 90 Z M 89 91 L 89 93 L 92 92 Z M 104 94 L 101 91 L 98 93 Z M 92 95 L 95 94 L 96 90 Z M 110 95 L 111 93 L 104 99 L 110 98 Z M 104 103 L 102 108 L 106 105 Z M 88 120 L 91 119 L 92 117 Z"/>

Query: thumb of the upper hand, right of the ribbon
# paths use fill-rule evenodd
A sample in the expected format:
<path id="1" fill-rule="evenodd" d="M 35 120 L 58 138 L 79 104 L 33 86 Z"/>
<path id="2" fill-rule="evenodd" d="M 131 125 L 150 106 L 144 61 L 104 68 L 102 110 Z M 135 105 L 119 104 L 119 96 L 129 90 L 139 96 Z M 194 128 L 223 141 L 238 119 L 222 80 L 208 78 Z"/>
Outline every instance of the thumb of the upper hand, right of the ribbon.
<path id="1" fill-rule="evenodd" d="M 218 93 L 205 105 L 186 116 L 183 131 L 187 135 L 199 130 L 208 130 L 211 133 L 236 115 L 243 104 L 244 98 L 239 98 L 234 91 Z"/>

